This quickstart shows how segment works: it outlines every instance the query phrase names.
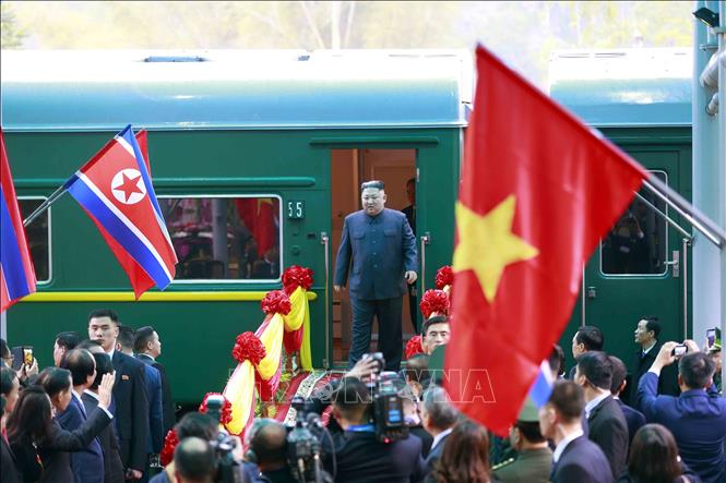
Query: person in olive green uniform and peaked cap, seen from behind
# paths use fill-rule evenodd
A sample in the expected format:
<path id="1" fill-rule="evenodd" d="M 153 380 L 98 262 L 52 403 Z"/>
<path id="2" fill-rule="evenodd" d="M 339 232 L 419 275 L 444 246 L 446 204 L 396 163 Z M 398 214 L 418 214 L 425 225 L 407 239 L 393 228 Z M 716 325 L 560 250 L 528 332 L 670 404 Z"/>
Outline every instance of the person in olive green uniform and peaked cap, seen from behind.
<path id="1" fill-rule="evenodd" d="M 539 432 L 537 407 L 532 399 L 525 401 L 509 438 L 519 456 L 492 467 L 495 479 L 502 483 L 547 482 L 552 470 L 552 451 Z"/>

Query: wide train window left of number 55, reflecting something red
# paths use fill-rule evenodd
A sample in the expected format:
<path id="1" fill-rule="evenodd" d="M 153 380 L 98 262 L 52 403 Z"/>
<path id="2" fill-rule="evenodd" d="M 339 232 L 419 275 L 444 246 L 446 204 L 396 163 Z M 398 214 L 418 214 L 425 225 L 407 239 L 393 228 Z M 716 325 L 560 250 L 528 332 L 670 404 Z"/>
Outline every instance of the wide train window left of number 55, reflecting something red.
<path id="1" fill-rule="evenodd" d="M 176 281 L 279 279 L 278 196 L 159 196 L 159 205 L 179 258 Z"/>

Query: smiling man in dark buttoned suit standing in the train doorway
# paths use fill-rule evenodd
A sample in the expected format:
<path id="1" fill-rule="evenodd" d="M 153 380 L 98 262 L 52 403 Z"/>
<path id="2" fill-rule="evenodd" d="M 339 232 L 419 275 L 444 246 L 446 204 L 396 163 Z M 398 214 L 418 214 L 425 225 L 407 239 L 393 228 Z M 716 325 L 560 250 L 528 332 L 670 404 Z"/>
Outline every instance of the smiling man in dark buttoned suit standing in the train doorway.
<path id="1" fill-rule="evenodd" d="M 361 184 L 364 209 L 348 215 L 335 262 L 336 292 L 348 281 L 353 305 L 353 343 L 348 367 L 368 352 L 373 316 L 378 318 L 378 350 L 385 370 L 401 367 L 402 298 L 405 282 L 416 282 L 417 254 L 414 237 L 401 212 L 385 208 L 382 181 Z M 353 267 L 350 267 L 353 265 Z"/>

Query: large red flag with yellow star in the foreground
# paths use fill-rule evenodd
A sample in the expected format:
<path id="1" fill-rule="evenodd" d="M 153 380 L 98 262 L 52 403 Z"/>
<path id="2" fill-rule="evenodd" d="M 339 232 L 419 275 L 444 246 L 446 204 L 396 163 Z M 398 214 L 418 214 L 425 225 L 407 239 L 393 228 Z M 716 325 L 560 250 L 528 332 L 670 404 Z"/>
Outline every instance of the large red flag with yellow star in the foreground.
<path id="1" fill-rule="evenodd" d="M 444 385 L 504 435 L 570 318 L 583 263 L 646 173 L 489 51 L 476 55 Z"/>

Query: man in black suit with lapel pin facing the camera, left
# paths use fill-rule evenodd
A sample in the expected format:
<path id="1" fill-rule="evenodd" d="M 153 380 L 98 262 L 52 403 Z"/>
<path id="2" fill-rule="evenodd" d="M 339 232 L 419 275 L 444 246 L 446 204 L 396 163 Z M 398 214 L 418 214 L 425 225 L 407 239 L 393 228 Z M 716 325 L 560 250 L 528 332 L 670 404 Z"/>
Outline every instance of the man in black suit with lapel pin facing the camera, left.
<path id="1" fill-rule="evenodd" d="M 140 480 L 146 468 L 148 438 L 148 399 L 144 382 L 144 363 L 116 350 L 119 319 L 111 310 L 88 315 L 88 338 L 98 340 L 110 355 L 116 370 L 114 399 L 116 430 L 121 447 L 121 461 L 127 480 Z"/>

